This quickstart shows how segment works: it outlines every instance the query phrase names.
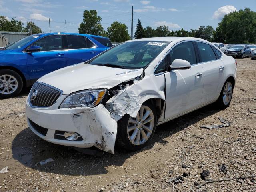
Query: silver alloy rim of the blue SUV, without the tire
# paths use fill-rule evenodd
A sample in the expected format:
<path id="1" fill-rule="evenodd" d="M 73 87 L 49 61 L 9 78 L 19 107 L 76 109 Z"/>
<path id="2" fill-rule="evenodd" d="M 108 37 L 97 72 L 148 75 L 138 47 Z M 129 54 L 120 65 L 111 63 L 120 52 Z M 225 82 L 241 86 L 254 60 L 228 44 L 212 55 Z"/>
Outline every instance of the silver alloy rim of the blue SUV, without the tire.
<path id="1" fill-rule="evenodd" d="M 0 93 L 11 94 L 18 88 L 18 80 L 12 75 L 0 76 Z"/>

